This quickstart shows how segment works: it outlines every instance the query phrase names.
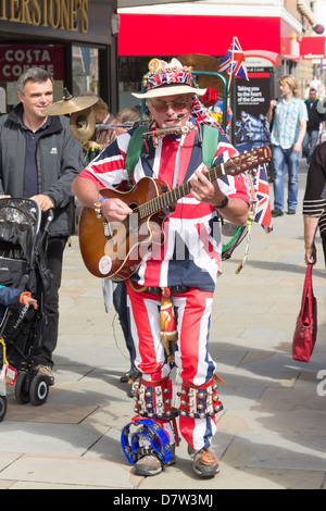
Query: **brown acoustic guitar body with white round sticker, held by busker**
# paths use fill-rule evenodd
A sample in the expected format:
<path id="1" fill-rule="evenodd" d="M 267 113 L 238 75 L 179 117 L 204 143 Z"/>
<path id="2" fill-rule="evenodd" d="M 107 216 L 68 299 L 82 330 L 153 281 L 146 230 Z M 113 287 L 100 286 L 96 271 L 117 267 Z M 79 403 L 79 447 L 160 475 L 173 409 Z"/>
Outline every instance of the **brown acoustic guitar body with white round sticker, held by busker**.
<path id="1" fill-rule="evenodd" d="M 153 215 L 141 219 L 138 208 L 168 191 L 166 183 L 141 178 L 129 191 L 101 189 L 109 199 L 121 199 L 137 212 L 124 222 L 99 219 L 95 210 L 84 208 L 79 221 L 79 246 L 87 270 L 100 278 L 121 282 L 129 278 L 139 267 L 153 242 L 163 244 L 164 220 L 175 210 L 175 204 L 163 208 Z"/>

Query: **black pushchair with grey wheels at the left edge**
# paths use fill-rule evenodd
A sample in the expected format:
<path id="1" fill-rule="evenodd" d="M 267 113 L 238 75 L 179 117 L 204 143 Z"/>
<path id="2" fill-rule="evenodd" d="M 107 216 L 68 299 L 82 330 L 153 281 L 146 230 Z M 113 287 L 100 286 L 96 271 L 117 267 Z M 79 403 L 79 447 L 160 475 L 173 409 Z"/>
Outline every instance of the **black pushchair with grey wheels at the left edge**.
<path id="1" fill-rule="evenodd" d="M 37 310 L 23 304 L 8 307 L 0 324 L 0 371 L 3 373 L 7 361 L 16 371 L 14 390 L 21 404 L 43 404 L 49 395 L 48 377 L 37 374 L 33 362 L 47 328 L 45 299 L 52 274 L 47 270 L 45 250 L 52 220 L 50 210 L 41 225 L 40 208 L 33 200 L 0 199 L 0 285 L 30 291 L 38 301 Z M 2 382 L 0 422 L 7 412 L 4 389 Z"/>

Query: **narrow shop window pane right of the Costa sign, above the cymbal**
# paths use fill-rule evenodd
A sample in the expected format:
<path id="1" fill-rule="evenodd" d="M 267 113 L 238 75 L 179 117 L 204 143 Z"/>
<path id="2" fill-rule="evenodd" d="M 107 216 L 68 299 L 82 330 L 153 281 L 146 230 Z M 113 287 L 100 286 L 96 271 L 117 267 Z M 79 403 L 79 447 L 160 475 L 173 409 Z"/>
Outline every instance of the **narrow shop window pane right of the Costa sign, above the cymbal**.
<path id="1" fill-rule="evenodd" d="M 99 95 L 99 50 L 73 46 L 73 96 Z"/>

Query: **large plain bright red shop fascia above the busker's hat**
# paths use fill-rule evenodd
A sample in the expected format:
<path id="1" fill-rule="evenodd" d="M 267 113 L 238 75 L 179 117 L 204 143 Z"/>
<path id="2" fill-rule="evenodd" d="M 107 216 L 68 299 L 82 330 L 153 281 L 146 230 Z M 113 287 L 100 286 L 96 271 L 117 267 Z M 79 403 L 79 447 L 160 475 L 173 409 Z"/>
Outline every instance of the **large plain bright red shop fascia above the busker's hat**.
<path id="1" fill-rule="evenodd" d="M 233 37 L 244 50 L 283 54 L 284 38 L 293 33 L 281 17 L 163 15 L 121 13 L 118 55 L 224 55 Z M 159 35 L 160 37 L 158 37 Z M 299 34 L 297 34 L 299 36 Z M 287 51 L 287 57 L 291 55 Z"/>

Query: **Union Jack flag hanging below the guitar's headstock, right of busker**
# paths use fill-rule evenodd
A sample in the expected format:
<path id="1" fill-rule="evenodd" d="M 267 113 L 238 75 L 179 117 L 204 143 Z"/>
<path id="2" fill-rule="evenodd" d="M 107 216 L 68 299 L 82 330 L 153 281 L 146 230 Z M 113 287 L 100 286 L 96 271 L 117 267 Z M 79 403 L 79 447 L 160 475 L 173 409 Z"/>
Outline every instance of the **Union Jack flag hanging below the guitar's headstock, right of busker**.
<path id="1" fill-rule="evenodd" d="M 254 222 L 261 224 L 266 233 L 271 233 L 273 230 L 273 223 L 265 163 L 258 167 L 253 178 L 253 186 L 256 199 Z"/>

